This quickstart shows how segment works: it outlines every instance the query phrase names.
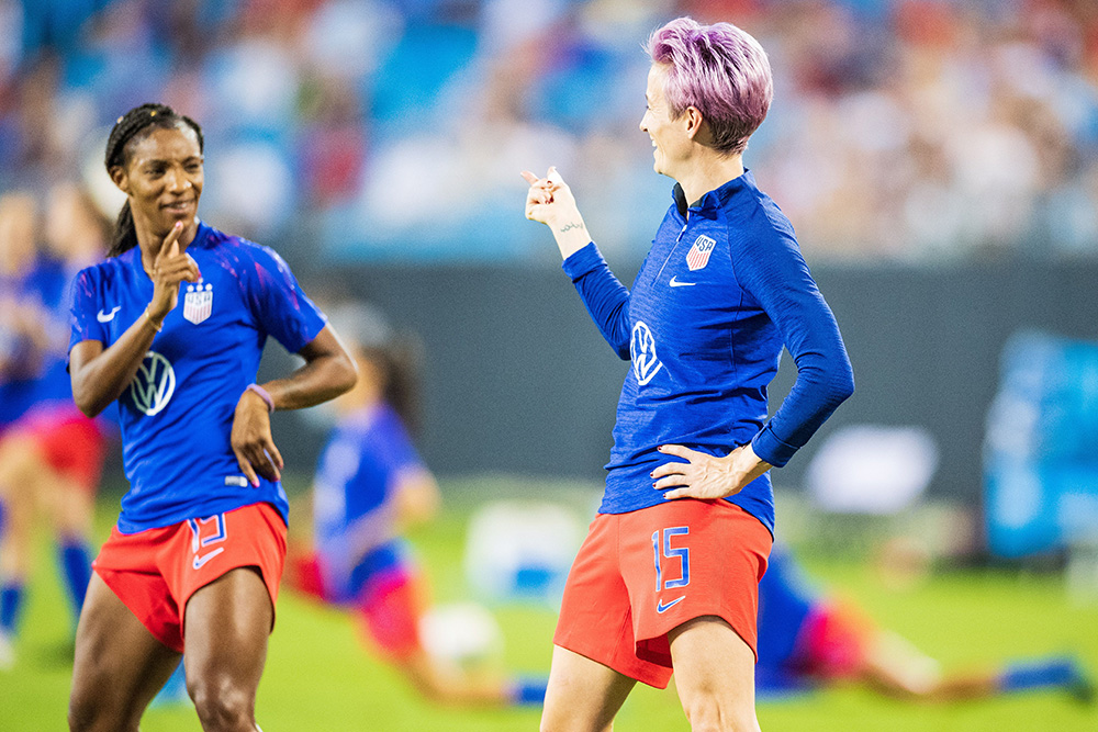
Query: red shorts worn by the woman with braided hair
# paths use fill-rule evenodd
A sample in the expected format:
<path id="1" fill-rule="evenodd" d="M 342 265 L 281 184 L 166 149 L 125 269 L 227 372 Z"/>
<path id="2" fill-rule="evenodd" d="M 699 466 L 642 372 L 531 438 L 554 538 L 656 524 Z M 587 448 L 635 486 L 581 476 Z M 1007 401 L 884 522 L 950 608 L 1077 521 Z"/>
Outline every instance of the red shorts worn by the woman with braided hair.
<path id="1" fill-rule="evenodd" d="M 253 504 L 137 533 L 115 527 L 91 566 L 156 640 L 182 653 L 191 595 L 231 570 L 255 566 L 273 609 L 284 561 L 282 516 Z"/>

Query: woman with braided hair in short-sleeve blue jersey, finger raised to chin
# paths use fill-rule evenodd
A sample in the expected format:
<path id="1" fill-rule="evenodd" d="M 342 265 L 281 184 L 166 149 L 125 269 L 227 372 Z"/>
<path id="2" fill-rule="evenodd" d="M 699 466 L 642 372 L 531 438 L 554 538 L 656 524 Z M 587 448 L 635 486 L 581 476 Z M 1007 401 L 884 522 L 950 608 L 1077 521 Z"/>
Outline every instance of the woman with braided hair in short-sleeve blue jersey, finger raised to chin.
<path id="1" fill-rule="evenodd" d="M 160 104 L 107 143 L 126 204 L 77 277 L 69 367 L 81 412 L 117 403 L 131 487 L 80 615 L 74 730 L 137 729 L 184 647 L 203 729 L 258 729 L 288 513 L 270 414 L 355 383 L 285 262 L 198 218 L 203 164 L 201 127 Z M 305 363 L 260 386 L 268 336 Z"/>

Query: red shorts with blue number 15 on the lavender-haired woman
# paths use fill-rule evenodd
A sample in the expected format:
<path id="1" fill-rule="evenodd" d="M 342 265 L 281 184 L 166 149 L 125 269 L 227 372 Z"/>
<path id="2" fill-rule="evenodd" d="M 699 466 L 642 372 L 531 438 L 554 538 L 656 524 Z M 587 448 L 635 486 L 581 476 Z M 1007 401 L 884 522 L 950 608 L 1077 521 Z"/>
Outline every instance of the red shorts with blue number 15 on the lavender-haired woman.
<path id="1" fill-rule="evenodd" d="M 553 643 L 661 689 L 668 632 L 687 620 L 722 618 L 754 651 L 772 541 L 727 500 L 600 514 L 568 575 Z"/>

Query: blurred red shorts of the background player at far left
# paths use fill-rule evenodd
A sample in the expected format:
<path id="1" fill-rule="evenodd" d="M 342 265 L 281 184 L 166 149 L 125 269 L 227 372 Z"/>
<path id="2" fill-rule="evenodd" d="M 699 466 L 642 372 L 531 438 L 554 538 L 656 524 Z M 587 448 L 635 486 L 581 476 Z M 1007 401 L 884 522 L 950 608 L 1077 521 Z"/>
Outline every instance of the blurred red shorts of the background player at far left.
<path id="1" fill-rule="evenodd" d="M 66 406 L 34 412 L 20 428 L 34 439 L 43 458 L 55 471 L 87 493 L 94 493 L 103 470 L 105 439 L 99 426 Z"/>

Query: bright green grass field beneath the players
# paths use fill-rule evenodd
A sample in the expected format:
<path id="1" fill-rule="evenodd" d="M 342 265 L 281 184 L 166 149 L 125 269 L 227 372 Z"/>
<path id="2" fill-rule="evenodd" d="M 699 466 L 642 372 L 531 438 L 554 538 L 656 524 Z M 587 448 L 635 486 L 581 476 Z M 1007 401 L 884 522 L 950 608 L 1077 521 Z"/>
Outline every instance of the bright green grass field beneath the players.
<path id="1" fill-rule="evenodd" d="M 460 497 L 451 500 L 452 495 Z M 547 492 L 529 495 L 544 498 Z M 412 536 L 436 601 L 469 599 L 461 552 L 464 521 L 474 500 L 462 488 L 451 489 L 448 503 L 440 521 Z M 589 510 L 589 502 L 573 503 L 579 511 Z M 104 499 L 102 537 L 114 510 L 116 499 Z M 5 732 L 65 729 L 70 619 L 45 542 L 40 559 L 16 646 L 19 662 L 13 671 L 0 673 L 0 730 Z M 956 572 L 931 576 L 916 589 L 897 593 L 882 588 L 872 570 L 854 562 L 806 564 L 820 583 L 861 604 L 882 624 L 941 660 L 946 668 L 1073 652 L 1090 669 L 1098 669 L 1098 605 L 1072 606 L 1058 576 Z M 554 615 L 531 607 L 496 608 L 496 615 L 506 637 L 508 666 L 547 672 Z M 366 652 L 347 617 L 284 592 L 259 688 L 258 719 L 267 732 L 505 732 L 536 730 L 538 712 L 458 710 L 424 702 Z M 1080 707 L 1056 694 L 941 707 L 905 705 L 844 688 L 760 703 L 759 719 L 764 730 L 1098 730 L 1096 708 Z M 142 729 L 170 732 L 200 727 L 192 709 L 177 707 L 150 710 Z M 617 732 L 687 729 L 674 691 L 647 687 L 637 688 L 615 725 Z"/>

